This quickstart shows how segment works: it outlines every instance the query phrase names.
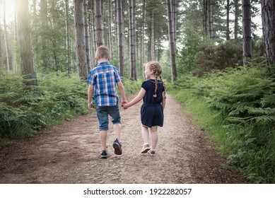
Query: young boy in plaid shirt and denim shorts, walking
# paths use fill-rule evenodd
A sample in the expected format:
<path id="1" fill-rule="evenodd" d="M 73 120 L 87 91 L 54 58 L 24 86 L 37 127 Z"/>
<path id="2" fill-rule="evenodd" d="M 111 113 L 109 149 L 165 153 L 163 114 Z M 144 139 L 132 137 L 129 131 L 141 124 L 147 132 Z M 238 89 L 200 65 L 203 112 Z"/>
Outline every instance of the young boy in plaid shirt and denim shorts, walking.
<path id="1" fill-rule="evenodd" d="M 110 65 L 110 50 L 106 46 L 100 46 L 95 52 L 95 59 L 98 65 L 90 71 L 87 83 L 88 87 L 88 108 L 93 109 L 92 98 L 94 95 L 96 113 L 98 115 L 100 144 L 102 151 L 100 158 L 107 158 L 107 130 L 108 130 L 108 115 L 112 117 L 114 124 L 115 141 L 112 144 L 115 148 L 115 154 L 122 154 L 122 145 L 119 142 L 121 132 L 121 119 L 119 115 L 119 98 L 117 96 L 116 85 L 122 95 L 122 104 L 127 103 L 127 98 L 124 92 L 124 86 L 120 78 L 117 67 Z"/>

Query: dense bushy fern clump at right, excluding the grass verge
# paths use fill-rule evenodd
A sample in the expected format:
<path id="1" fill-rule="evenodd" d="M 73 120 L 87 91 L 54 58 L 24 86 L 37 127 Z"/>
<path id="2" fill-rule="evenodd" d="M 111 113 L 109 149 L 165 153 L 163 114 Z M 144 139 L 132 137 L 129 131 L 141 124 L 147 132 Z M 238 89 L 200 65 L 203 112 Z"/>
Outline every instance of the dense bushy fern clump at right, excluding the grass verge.
<path id="1" fill-rule="evenodd" d="M 221 110 L 228 122 L 237 126 L 274 123 L 275 83 L 266 77 L 266 69 L 238 67 L 210 74 L 206 79 L 204 84 L 211 89 L 209 107 Z"/>

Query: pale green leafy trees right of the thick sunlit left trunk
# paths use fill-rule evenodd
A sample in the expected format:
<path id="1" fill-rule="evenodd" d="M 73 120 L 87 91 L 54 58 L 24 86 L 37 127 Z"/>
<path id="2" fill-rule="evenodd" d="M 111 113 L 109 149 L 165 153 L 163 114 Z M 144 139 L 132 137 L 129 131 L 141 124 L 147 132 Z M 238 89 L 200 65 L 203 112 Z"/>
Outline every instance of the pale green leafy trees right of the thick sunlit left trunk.
<path id="1" fill-rule="evenodd" d="M 76 60 L 74 47 L 71 47 L 70 57 L 66 51 L 66 16 L 64 1 L 48 1 L 47 7 L 40 4 L 40 11 L 32 16 L 32 37 L 35 53 L 35 64 L 38 71 L 74 71 Z M 74 45 L 74 11 L 69 4 L 69 40 Z"/>

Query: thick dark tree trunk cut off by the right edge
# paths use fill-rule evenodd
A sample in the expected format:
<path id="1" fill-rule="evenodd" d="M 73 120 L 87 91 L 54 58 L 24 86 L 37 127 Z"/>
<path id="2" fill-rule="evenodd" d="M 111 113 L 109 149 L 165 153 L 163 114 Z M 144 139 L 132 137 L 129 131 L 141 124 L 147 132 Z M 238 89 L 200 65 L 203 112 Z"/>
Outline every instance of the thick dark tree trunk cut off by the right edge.
<path id="1" fill-rule="evenodd" d="M 262 30 L 267 64 L 275 68 L 275 2 L 262 0 Z M 273 70 L 274 71 L 274 70 Z"/>

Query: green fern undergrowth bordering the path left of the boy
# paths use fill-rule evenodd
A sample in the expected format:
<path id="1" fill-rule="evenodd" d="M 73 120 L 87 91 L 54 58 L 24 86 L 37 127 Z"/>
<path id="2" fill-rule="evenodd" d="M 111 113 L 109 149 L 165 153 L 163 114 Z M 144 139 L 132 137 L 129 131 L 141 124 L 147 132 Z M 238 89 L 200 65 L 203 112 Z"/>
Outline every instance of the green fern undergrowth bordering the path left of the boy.
<path id="1" fill-rule="evenodd" d="M 0 81 L 0 137 L 24 138 L 75 115 L 85 114 L 87 85 L 62 73 L 38 76 L 40 86 L 24 86 L 21 74 Z"/>

